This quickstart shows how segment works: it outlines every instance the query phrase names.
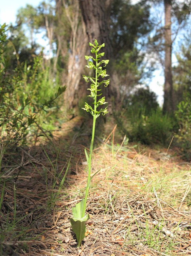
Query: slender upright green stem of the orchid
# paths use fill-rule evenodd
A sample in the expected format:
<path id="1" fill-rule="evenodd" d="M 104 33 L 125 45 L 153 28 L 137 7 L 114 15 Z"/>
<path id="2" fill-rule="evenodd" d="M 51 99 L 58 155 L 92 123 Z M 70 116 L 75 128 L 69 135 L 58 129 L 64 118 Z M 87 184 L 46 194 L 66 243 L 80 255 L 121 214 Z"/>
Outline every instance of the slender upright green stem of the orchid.
<path id="1" fill-rule="evenodd" d="M 97 60 L 97 51 L 95 52 L 95 59 Z M 88 161 L 88 180 L 87 180 L 87 186 L 86 186 L 86 192 L 85 192 L 85 198 L 84 198 L 84 205 L 83 205 L 83 212 L 82 217 L 85 216 L 86 212 L 86 202 L 89 192 L 89 186 L 91 182 L 91 157 L 93 152 L 93 141 L 94 141 L 94 135 L 95 135 L 95 122 L 96 122 L 96 110 L 97 110 L 97 84 L 98 84 L 98 61 L 96 61 L 95 65 L 95 98 L 94 98 L 94 114 L 93 114 L 93 127 L 92 127 L 92 136 L 91 136 L 91 144 L 89 149 L 89 161 Z"/>

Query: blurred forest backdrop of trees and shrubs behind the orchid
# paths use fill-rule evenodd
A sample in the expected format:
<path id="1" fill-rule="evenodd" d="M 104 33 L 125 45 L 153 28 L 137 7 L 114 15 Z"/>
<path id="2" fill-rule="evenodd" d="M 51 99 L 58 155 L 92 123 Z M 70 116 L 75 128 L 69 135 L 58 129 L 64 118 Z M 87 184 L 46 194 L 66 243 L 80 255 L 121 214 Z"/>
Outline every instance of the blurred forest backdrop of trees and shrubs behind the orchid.
<path id="1" fill-rule="evenodd" d="M 46 49 L 37 43 L 42 34 Z M 84 115 L 84 55 L 94 39 L 106 44 L 111 80 L 106 100 L 121 133 L 143 144 L 168 145 L 174 138 L 188 160 L 189 1 L 63 0 L 20 8 L 15 25 L 1 27 L 1 135 L 23 144 L 32 134 L 61 127 L 67 115 Z M 164 70 L 162 107 L 149 88 L 159 66 Z"/>

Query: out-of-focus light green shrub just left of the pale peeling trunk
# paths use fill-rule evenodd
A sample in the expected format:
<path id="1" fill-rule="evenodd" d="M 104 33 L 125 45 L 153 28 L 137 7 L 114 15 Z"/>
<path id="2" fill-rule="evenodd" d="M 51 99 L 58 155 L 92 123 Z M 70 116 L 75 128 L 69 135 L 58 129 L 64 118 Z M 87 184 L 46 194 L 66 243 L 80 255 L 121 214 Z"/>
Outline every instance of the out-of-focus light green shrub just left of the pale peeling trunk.
<path id="1" fill-rule="evenodd" d="M 50 67 L 44 67 L 42 55 L 36 56 L 33 60 L 33 66 L 23 67 L 22 97 L 29 97 L 31 103 L 26 108 L 26 114 L 38 112 L 39 107 L 43 109 L 38 115 L 38 124 L 45 130 L 55 128 L 55 121 L 60 115 L 60 106 L 58 101 L 51 100 L 55 97 L 55 91 L 59 89 L 59 80 L 56 76 L 51 77 Z M 48 103 L 49 102 L 49 103 Z M 48 103 L 48 104 L 47 104 Z M 33 126 L 33 128 L 35 128 Z M 31 127 L 32 129 L 32 127 Z"/>

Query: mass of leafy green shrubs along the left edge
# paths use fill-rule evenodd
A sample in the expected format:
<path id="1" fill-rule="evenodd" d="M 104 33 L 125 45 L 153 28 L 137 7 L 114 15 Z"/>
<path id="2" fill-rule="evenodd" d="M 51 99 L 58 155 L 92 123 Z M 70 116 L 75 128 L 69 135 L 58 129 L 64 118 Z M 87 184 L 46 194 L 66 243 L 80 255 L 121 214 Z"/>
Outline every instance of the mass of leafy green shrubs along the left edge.
<path id="1" fill-rule="evenodd" d="M 4 24 L 0 28 L 0 133 L 7 143 L 14 145 L 25 143 L 27 135 L 35 132 L 34 125 L 39 129 L 42 124 L 40 118 L 46 118 L 46 115 L 39 113 L 42 110 L 47 113 L 66 87 L 55 88 L 56 94 L 51 92 L 53 87 L 50 87 L 50 82 L 47 83 L 41 56 L 34 59 L 32 68 L 18 61 L 10 73 L 9 58 L 4 54 L 3 47 L 6 43 L 5 30 Z"/>

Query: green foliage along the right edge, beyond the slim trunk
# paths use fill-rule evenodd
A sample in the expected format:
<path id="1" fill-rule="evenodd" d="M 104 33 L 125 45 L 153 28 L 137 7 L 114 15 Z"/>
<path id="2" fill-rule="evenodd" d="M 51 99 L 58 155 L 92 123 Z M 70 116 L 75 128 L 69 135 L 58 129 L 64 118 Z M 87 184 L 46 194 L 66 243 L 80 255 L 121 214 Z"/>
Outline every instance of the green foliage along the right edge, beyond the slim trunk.
<path id="1" fill-rule="evenodd" d="M 188 34 L 181 51 L 176 54 L 178 65 L 173 68 L 173 82 L 176 96 L 175 117 L 178 131 L 175 145 L 181 148 L 183 157 L 191 159 L 191 40 Z"/>

